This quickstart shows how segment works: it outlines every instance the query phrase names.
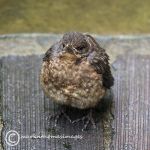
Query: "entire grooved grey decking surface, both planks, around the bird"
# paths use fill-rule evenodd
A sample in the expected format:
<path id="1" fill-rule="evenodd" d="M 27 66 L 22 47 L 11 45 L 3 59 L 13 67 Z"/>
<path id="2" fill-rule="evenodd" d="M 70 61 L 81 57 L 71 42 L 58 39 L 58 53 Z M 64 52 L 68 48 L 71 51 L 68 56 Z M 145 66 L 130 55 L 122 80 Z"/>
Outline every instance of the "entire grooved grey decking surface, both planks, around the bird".
<path id="1" fill-rule="evenodd" d="M 82 123 L 72 125 L 64 118 L 54 127 L 49 114 L 57 106 L 44 96 L 39 86 L 41 56 L 8 56 L 0 59 L 3 97 L 2 144 L 7 150 L 149 150 L 150 149 L 150 57 L 118 57 L 115 69 L 114 117 L 107 113 L 97 129 L 81 131 Z M 70 113 L 72 114 L 72 113 Z M 73 114 L 74 115 L 74 114 Z M 6 142 L 15 130 L 20 136 L 71 136 L 82 139 L 21 138 L 16 146 Z M 16 141 L 12 135 L 12 141 Z"/>

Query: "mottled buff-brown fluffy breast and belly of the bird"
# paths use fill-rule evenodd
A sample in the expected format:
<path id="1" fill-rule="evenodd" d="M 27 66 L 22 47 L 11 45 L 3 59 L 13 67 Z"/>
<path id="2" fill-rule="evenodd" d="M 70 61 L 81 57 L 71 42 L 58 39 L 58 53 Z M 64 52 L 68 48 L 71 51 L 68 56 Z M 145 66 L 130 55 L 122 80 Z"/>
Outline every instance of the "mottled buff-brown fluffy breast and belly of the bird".
<path id="1" fill-rule="evenodd" d="M 81 109 L 94 107 L 105 95 L 102 75 L 88 61 L 76 65 L 72 59 L 44 61 L 41 85 L 55 102 Z"/>

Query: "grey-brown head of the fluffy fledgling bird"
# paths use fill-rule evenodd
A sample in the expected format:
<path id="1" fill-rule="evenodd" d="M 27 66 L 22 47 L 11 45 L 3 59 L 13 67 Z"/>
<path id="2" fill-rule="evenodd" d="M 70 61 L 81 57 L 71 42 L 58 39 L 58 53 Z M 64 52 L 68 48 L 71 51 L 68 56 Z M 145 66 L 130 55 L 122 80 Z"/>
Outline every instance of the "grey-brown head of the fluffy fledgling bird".
<path id="1" fill-rule="evenodd" d="M 90 58 L 92 53 L 99 48 L 99 44 L 92 36 L 79 32 L 67 32 L 59 42 L 52 45 L 45 53 L 43 60 L 58 58 L 63 60 L 71 59 L 76 62 L 83 58 Z"/>

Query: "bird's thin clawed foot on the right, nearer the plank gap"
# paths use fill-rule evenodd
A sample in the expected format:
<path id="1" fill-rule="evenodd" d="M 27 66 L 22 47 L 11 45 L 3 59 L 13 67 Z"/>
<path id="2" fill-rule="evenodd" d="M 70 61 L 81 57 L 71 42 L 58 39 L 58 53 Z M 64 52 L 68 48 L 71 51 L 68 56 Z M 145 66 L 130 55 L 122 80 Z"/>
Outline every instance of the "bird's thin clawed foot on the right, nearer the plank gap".
<path id="1" fill-rule="evenodd" d="M 77 123 L 79 121 L 83 121 L 84 122 L 84 127 L 82 128 L 82 131 L 84 131 L 85 129 L 87 129 L 88 124 L 92 124 L 93 128 L 96 128 L 96 124 L 92 115 L 92 110 L 90 110 L 90 112 L 86 115 L 83 116 L 82 118 L 76 119 L 74 121 L 72 121 L 72 123 Z"/>

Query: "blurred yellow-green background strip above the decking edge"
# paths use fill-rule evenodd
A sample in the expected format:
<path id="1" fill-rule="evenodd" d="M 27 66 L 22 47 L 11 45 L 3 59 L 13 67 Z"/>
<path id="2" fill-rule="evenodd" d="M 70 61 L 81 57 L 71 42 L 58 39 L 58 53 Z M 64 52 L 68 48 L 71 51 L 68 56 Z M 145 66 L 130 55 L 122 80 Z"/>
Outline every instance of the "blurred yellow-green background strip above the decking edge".
<path id="1" fill-rule="evenodd" d="M 150 0 L 0 0 L 0 34 L 150 33 Z"/>

